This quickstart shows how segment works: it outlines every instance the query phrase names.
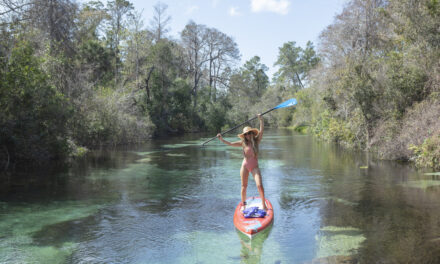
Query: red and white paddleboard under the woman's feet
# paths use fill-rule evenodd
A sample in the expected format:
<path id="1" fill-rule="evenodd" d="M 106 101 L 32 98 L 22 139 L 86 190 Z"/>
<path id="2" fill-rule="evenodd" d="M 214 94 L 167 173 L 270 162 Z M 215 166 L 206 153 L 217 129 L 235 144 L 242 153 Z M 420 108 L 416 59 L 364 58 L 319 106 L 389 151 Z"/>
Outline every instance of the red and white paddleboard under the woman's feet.
<path id="1" fill-rule="evenodd" d="M 250 197 L 246 200 L 246 208 L 258 207 L 262 209 L 262 203 L 260 197 Z M 252 236 L 256 235 L 258 232 L 266 229 L 270 226 L 273 221 L 273 208 L 272 204 L 269 200 L 266 199 L 266 216 L 263 218 L 245 218 L 243 213 L 241 212 L 241 202 L 238 204 L 234 213 L 234 225 L 235 227 L 252 238 Z"/>

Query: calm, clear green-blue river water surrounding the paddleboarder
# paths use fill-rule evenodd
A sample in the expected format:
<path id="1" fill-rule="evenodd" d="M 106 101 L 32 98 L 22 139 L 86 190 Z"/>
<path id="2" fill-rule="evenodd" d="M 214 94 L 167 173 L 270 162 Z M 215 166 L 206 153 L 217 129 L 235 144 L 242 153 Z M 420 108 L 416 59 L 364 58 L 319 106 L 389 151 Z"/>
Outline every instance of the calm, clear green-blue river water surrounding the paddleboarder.
<path id="1" fill-rule="evenodd" d="M 275 218 L 249 240 L 232 221 L 242 151 L 201 147 L 206 138 L 12 175 L 0 187 L 0 263 L 440 263 L 438 172 L 267 130 L 260 166 Z"/>

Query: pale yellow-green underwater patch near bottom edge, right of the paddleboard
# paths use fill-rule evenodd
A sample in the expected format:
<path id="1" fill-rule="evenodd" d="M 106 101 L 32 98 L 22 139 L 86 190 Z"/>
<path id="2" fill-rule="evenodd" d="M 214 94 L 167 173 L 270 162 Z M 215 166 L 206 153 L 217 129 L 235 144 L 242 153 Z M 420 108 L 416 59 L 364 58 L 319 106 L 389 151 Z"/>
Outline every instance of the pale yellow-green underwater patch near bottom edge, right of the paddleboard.
<path id="1" fill-rule="evenodd" d="M 361 230 L 354 227 L 326 226 L 316 235 L 316 258 L 350 256 L 366 240 Z"/>

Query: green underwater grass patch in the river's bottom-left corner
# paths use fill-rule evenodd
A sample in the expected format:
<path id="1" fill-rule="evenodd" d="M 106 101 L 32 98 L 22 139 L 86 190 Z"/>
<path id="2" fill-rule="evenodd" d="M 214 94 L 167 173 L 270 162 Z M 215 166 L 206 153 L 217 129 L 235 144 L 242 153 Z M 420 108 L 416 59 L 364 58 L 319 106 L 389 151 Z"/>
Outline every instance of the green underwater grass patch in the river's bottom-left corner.
<path id="1" fill-rule="evenodd" d="M 84 219 L 102 207 L 76 201 L 9 206 L 0 218 L 0 263 L 65 263 L 76 243 L 40 247 L 35 244 L 34 234 L 47 226 Z"/>

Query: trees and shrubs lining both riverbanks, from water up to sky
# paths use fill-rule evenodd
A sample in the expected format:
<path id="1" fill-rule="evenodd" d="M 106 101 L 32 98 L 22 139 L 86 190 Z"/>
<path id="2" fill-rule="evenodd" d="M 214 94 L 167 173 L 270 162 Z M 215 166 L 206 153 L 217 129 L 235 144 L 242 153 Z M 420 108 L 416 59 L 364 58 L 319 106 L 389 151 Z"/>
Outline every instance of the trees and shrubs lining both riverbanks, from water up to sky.
<path id="1" fill-rule="evenodd" d="M 258 55 L 237 65 L 233 38 L 209 25 L 167 35 L 160 2 L 149 26 L 126 0 L 3 8 L 0 172 L 218 132 L 292 97 L 268 126 L 440 169 L 438 0 L 348 1 L 316 47 L 278 48 L 274 76 Z"/>

